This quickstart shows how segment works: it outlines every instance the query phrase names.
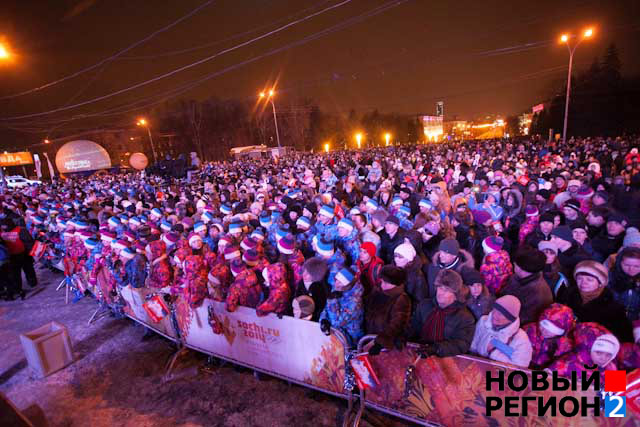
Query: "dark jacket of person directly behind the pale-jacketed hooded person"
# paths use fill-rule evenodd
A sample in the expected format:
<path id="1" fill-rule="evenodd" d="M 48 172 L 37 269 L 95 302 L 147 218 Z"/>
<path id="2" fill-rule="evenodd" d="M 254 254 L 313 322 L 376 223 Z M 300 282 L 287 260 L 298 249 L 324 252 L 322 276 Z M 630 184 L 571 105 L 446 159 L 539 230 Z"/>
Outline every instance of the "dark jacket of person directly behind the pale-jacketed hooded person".
<path id="1" fill-rule="evenodd" d="M 553 295 L 542 273 L 535 273 L 524 279 L 515 274 L 502 288 L 499 296 L 513 295 L 520 300 L 520 320 L 523 324 L 536 322 L 540 314 L 553 303 Z"/>

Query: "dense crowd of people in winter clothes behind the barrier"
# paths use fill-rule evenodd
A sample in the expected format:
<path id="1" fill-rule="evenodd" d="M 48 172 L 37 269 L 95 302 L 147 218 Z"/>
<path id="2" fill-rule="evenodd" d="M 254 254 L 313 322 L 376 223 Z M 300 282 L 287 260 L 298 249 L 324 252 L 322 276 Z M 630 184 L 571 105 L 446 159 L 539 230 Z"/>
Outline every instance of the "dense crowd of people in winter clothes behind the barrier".
<path id="1" fill-rule="evenodd" d="M 204 163 L 5 191 L 6 292 L 33 241 L 112 307 L 149 287 L 566 375 L 640 367 L 634 138 L 454 142 Z M 39 246 L 39 245 L 37 245 Z M 78 285 L 82 297 L 82 285 Z"/>

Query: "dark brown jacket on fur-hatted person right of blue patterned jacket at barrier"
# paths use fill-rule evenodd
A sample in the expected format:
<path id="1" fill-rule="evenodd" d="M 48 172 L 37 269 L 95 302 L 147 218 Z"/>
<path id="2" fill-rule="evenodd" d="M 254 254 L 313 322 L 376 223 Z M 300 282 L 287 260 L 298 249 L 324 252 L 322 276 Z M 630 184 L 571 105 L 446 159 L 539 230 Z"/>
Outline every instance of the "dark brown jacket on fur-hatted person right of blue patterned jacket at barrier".
<path id="1" fill-rule="evenodd" d="M 374 289 L 365 301 L 365 331 L 376 334 L 376 342 L 391 350 L 402 347 L 411 317 L 411 298 L 404 285 L 393 289 Z"/>

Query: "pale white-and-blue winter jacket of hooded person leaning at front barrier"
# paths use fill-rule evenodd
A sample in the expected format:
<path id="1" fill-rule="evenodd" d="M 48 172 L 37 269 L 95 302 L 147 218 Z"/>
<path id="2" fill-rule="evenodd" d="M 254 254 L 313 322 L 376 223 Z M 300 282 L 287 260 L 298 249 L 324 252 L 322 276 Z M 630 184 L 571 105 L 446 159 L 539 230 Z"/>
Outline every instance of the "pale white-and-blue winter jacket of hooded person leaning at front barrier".
<path id="1" fill-rule="evenodd" d="M 526 332 L 520 329 L 520 319 L 516 318 L 509 325 L 496 331 L 491 323 L 492 315 L 493 313 L 489 313 L 478 320 L 471 342 L 471 352 L 498 362 L 523 368 L 529 366 L 533 350 Z M 493 347 L 491 351 L 490 345 Z"/>

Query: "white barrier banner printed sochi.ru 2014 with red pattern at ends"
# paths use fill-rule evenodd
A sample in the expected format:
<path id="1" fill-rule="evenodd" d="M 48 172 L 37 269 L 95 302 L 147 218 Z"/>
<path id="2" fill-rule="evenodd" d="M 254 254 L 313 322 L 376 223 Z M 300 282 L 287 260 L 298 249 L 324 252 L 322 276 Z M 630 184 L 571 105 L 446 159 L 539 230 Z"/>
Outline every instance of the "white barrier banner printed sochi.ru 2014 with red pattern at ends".
<path id="1" fill-rule="evenodd" d="M 180 325 L 188 347 L 342 393 L 344 348 L 334 335 L 324 335 L 316 322 L 279 319 L 275 314 L 257 317 L 246 307 L 229 313 L 225 304 L 205 300 Z"/>

